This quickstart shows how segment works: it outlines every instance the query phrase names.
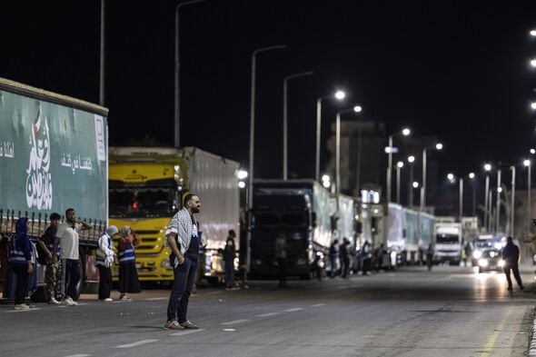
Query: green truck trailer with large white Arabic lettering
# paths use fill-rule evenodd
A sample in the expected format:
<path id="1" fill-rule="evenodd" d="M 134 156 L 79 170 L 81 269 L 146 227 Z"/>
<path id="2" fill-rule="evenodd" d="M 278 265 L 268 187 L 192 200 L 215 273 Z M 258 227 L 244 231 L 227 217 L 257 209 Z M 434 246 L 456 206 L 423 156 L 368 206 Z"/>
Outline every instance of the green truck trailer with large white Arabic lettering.
<path id="1" fill-rule="evenodd" d="M 80 235 L 84 283 L 98 280 L 96 241 L 107 222 L 108 110 L 62 94 L 0 78 L 0 280 L 19 217 L 30 220 L 35 242 L 50 213 L 74 208 L 94 229 Z M 37 264 L 35 301 L 47 301 L 45 266 Z"/>

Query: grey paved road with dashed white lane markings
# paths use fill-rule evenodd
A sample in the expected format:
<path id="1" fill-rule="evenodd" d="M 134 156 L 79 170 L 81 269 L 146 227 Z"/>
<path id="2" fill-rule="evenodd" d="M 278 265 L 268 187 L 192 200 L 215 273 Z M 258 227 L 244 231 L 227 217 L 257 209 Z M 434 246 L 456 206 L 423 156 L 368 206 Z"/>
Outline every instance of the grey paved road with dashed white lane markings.
<path id="1" fill-rule="evenodd" d="M 501 273 L 405 267 L 351 279 L 253 282 L 205 288 L 191 300 L 200 330 L 164 330 L 169 291 L 133 302 L 0 304 L 0 356 L 523 356 L 532 326 L 528 288 L 506 291 Z M 115 297 L 115 296 L 114 296 Z"/>

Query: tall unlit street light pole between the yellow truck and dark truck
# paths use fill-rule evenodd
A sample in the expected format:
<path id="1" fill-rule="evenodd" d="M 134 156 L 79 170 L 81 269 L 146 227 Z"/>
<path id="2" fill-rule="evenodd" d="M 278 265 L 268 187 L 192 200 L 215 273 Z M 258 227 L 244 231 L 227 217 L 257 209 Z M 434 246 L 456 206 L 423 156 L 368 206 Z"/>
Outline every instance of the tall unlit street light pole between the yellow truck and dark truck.
<path id="1" fill-rule="evenodd" d="M 187 3 L 183 3 L 187 4 Z M 248 209 L 248 215 L 249 215 L 249 222 L 251 223 L 251 212 L 253 208 L 253 154 L 254 154 L 254 147 L 255 147 L 255 84 L 256 84 L 256 61 L 257 61 L 257 55 L 266 52 L 266 51 L 272 51 L 272 50 L 280 50 L 286 48 L 286 45 L 272 45 L 262 48 L 257 48 L 253 51 L 252 54 L 252 86 L 251 86 L 251 108 L 250 108 L 250 157 L 249 157 L 249 182 L 248 182 L 248 203 L 247 203 L 247 209 Z M 250 272 L 251 267 L 251 232 L 248 227 L 248 239 L 247 242 L 247 271 Z"/>

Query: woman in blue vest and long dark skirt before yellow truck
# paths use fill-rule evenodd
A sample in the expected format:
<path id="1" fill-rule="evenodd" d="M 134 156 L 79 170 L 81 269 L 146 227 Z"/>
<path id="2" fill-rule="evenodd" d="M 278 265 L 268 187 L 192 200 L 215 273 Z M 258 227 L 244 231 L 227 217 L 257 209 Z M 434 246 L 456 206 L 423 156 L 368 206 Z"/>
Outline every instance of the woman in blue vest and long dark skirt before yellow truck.
<path id="1" fill-rule="evenodd" d="M 121 229 L 119 248 L 117 257 L 119 258 L 119 299 L 124 301 L 132 300 L 129 293 L 140 293 L 142 291 L 136 272 L 134 247 L 139 244 L 138 236 L 132 231 L 130 226 L 125 225 Z"/>

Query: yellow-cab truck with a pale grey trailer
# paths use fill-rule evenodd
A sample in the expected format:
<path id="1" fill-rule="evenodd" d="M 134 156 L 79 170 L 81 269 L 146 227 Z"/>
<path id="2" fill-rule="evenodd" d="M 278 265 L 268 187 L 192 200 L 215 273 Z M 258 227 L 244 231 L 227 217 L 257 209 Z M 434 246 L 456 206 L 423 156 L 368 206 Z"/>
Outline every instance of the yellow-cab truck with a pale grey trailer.
<path id="1" fill-rule="evenodd" d="M 204 246 L 203 277 L 223 278 L 223 249 L 228 231 L 240 249 L 238 163 L 194 147 L 110 147 L 110 224 L 129 225 L 141 238 L 135 248 L 138 276 L 145 282 L 173 281 L 165 229 L 182 208 L 184 196 L 201 199 L 196 214 Z M 115 267 L 114 279 L 118 269 Z"/>

